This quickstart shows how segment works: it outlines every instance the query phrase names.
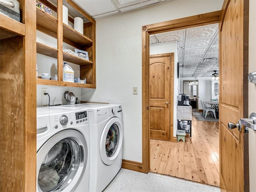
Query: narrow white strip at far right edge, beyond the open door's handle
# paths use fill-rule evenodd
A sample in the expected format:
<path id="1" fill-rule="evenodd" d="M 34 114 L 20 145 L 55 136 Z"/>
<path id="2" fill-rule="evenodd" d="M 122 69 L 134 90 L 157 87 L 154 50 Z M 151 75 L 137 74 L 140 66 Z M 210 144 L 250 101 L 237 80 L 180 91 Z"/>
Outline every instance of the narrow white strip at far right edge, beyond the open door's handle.
<path id="1" fill-rule="evenodd" d="M 256 0 L 250 0 L 249 10 L 249 72 L 256 71 Z M 256 84 L 249 82 L 249 115 L 256 112 Z M 256 192 L 256 131 L 249 129 L 250 191 Z"/>

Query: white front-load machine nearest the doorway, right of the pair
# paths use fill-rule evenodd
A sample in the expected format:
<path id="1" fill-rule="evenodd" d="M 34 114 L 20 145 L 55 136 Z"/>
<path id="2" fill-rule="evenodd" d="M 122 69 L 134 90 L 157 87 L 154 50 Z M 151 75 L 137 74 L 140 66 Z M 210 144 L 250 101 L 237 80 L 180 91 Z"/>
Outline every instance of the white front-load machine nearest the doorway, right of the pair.
<path id="1" fill-rule="evenodd" d="M 101 192 L 122 167 L 122 106 L 118 104 L 76 104 L 61 107 L 88 109 L 90 125 L 89 191 Z"/>

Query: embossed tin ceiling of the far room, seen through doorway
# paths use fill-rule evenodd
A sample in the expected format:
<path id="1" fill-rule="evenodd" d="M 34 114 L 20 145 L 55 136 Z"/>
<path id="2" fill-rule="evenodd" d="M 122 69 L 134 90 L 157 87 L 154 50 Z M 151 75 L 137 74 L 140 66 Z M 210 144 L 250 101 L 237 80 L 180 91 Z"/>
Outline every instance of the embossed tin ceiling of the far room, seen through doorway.
<path id="1" fill-rule="evenodd" d="M 180 77 L 218 73 L 218 24 L 150 35 L 150 44 L 170 41 L 177 41 Z"/>

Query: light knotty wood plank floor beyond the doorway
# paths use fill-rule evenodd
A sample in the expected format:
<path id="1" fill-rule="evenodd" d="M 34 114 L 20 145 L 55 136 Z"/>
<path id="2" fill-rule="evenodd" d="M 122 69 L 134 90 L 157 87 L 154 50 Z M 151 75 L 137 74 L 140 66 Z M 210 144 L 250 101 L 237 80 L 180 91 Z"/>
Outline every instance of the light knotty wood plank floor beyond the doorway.
<path id="1" fill-rule="evenodd" d="M 150 172 L 220 186 L 218 122 L 196 121 L 186 142 L 150 139 Z"/>

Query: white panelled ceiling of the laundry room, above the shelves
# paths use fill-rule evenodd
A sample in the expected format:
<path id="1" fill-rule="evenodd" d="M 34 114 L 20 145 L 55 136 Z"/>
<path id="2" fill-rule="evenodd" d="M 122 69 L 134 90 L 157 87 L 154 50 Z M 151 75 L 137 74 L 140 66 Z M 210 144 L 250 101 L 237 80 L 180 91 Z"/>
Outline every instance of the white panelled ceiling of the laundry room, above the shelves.
<path id="1" fill-rule="evenodd" d="M 73 0 L 92 18 L 126 12 L 170 0 Z"/>

